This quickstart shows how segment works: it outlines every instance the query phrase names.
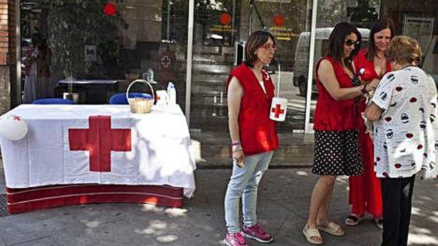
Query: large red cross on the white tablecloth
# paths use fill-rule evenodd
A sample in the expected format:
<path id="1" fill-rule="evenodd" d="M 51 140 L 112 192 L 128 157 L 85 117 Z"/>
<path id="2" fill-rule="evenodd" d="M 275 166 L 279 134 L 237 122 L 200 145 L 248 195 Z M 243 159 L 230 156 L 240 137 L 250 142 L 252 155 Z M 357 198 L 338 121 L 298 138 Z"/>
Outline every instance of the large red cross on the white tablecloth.
<path id="1" fill-rule="evenodd" d="M 110 116 L 90 116 L 89 129 L 69 129 L 71 151 L 90 152 L 90 171 L 110 172 L 111 151 L 131 151 L 131 129 L 112 129 Z"/>

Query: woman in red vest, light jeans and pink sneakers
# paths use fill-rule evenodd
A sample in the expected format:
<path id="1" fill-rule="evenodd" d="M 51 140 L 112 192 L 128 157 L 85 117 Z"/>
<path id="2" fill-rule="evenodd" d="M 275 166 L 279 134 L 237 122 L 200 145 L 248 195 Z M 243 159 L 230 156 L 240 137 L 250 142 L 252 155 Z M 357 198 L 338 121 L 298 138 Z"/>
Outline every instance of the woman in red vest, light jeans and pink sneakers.
<path id="1" fill-rule="evenodd" d="M 263 67 L 274 58 L 275 38 L 269 32 L 252 33 L 245 46 L 245 63 L 227 80 L 228 126 L 233 159 L 225 194 L 227 246 L 247 246 L 246 238 L 269 243 L 273 238 L 257 224 L 257 189 L 278 149 L 275 122 L 269 119 L 274 84 Z M 239 223 L 242 198 L 243 229 Z"/>

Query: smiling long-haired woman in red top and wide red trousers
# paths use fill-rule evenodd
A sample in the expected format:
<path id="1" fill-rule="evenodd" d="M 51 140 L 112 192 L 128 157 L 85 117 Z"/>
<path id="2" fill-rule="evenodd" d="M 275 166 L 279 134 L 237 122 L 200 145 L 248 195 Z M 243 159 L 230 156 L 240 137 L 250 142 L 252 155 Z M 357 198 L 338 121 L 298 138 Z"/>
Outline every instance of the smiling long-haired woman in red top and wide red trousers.
<path id="1" fill-rule="evenodd" d="M 354 68 L 365 83 L 380 81 L 391 71 L 385 51 L 394 37 L 394 24 L 390 19 L 378 19 L 371 27 L 368 48 L 360 50 L 354 57 Z M 365 100 L 358 104 L 359 147 L 365 170 L 362 175 L 349 177 L 349 203 L 351 214 L 345 219 L 347 226 L 356 226 L 363 220 L 365 213 L 373 216 L 377 227 L 383 228 L 382 192 L 380 179 L 374 172 L 374 147 L 368 134 L 361 113 L 365 111 Z"/>

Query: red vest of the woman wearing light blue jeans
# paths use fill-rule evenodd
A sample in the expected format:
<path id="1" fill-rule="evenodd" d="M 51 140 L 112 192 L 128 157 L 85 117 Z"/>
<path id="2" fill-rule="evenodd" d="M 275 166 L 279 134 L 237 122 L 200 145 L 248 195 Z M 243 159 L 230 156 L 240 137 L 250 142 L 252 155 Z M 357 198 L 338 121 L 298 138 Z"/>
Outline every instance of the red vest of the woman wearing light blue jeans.
<path id="1" fill-rule="evenodd" d="M 275 122 L 269 119 L 274 84 L 269 74 L 262 70 L 266 94 L 254 73 L 242 64 L 233 69 L 226 85 L 236 77 L 243 87 L 238 116 L 240 144 L 246 156 L 256 155 L 278 149 L 278 136 Z"/>

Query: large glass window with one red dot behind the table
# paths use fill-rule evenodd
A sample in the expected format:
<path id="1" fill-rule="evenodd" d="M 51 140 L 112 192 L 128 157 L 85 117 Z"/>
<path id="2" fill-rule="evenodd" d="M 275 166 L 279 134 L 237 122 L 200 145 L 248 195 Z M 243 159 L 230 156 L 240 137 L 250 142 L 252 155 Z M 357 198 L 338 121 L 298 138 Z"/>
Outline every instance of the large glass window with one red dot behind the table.
<path id="1" fill-rule="evenodd" d="M 155 90 L 174 82 L 184 108 L 187 1 L 22 0 L 20 10 L 25 102 L 76 93 L 78 103 L 108 103 L 145 79 Z"/>

